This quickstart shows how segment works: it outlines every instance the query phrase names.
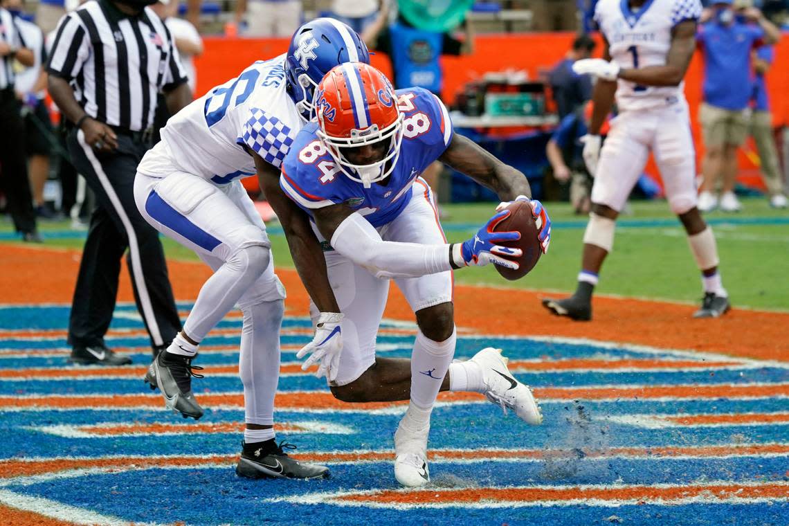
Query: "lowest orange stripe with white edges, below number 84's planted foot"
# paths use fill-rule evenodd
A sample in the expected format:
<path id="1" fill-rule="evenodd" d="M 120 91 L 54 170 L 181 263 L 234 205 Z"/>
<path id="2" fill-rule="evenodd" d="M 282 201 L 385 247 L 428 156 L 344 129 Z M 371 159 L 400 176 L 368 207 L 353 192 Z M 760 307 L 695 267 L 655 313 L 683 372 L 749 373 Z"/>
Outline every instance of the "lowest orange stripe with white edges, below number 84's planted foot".
<path id="1" fill-rule="evenodd" d="M 430 505 L 451 502 L 469 503 L 484 500 L 505 502 L 539 502 L 589 500 L 638 501 L 663 503 L 687 498 L 714 497 L 720 500 L 730 498 L 774 498 L 786 500 L 789 487 L 785 484 L 761 483 L 757 485 L 711 484 L 690 487 L 513 487 L 513 488 L 475 488 L 469 490 L 418 490 L 418 491 L 380 491 L 370 494 L 345 495 L 335 501 L 375 502 L 392 504 Z"/>

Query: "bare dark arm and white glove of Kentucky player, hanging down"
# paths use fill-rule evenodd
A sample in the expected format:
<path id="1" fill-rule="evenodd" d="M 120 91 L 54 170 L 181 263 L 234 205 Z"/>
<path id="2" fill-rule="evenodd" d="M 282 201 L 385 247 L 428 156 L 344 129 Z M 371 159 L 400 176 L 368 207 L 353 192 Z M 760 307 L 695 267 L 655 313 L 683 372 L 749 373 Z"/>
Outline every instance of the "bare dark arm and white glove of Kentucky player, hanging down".
<path id="1" fill-rule="evenodd" d="M 255 159 L 260 189 L 274 209 L 294 259 L 296 271 L 304 284 L 309 297 L 320 311 L 315 320 L 315 335 L 296 355 L 301 359 L 310 356 L 301 365 L 307 370 L 312 364 L 319 364 L 316 376 L 326 376 L 329 382 L 337 378 L 340 355 L 342 353 L 342 313 L 331 289 L 326 259 L 318 238 L 312 232 L 309 219 L 296 203 L 288 199 L 279 187 L 279 170 L 265 162 L 260 155 L 252 153 Z"/>

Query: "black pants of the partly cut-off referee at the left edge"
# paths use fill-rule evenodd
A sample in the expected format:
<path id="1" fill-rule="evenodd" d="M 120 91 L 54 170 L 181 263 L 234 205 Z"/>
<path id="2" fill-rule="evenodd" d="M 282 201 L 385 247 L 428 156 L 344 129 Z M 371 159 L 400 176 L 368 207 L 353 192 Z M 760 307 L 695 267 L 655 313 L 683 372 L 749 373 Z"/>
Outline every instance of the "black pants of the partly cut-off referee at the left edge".
<path id="1" fill-rule="evenodd" d="M 0 90 L 0 173 L 8 211 L 20 233 L 36 231 L 36 211 L 28 179 L 21 104 L 13 88 Z"/>

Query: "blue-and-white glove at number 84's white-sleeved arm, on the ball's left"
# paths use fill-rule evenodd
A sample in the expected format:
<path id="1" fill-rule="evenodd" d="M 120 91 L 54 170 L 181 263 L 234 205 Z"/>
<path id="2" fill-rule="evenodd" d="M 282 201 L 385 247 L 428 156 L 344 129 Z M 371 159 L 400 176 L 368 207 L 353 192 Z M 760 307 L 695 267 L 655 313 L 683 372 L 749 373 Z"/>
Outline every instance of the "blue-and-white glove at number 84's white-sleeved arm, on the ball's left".
<path id="1" fill-rule="evenodd" d="M 520 257 L 520 248 L 503 247 L 497 243 L 503 241 L 517 241 L 521 238 L 520 232 L 494 232 L 496 225 L 504 219 L 510 217 L 510 211 L 499 211 L 494 215 L 485 226 L 477 230 L 477 233 L 468 241 L 452 245 L 452 260 L 455 267 L 477 266 L 484 267 L 488 263 L 494 263 L 502 267 L 517 270 L 519 265 L 507 257 Z M 507 256 L 507 257 L 502 257 Z"/>

